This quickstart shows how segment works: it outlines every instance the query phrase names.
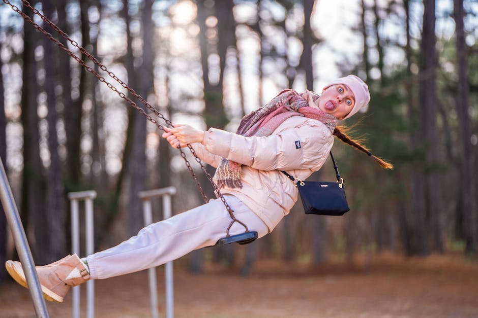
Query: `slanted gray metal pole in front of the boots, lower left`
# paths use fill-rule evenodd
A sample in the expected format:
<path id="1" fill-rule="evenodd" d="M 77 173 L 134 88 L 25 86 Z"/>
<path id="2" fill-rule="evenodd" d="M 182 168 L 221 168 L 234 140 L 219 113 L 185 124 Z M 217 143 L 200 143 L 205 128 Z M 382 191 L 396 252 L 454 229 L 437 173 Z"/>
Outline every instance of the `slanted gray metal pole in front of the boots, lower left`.
<path id="1" fill-rule="evenodd" d="M 46 309 L 45 299 L 40 288 L 40 282 L 38 280 L 37 271 L 35 270 L 35 263 L 33 262 L 32 253 L 26 240 L 25 230 L 20 221 L 18 215 L 17 206 L 13 199 L 12 190 L 7 179 L 7 173 L 0 158 L 0 199 L 5 209 L 5 215 L 7 217 L 8 225 L 12 231 L 13 239 L 15 241 L 15 247 L 20 258 L 23 272 L 25 273 L 26 282 L 30 295 L 32 295 L 33 306 L 35 307 L 35 313 L 37 317 L 48 318 L 48 311 Z"/>

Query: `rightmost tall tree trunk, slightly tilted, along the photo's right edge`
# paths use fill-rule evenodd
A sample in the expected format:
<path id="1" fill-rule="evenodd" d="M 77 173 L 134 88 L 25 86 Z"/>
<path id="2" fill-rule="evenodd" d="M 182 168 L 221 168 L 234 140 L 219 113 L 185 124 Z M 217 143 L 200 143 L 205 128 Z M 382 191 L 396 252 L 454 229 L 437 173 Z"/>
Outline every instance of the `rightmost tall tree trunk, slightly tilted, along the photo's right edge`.
<path id="1" fill-rule="evenodd" d="M 460 121 L 461 140 L 463 145 L 463 154 L 461 156 L 461 176 L 460 182 L 461 201 L 463 204 L 463 232 L 465 233 L 467 253 L 476 254 L 478 252 L 478 211 L 476 202 L 476 183 L 468 179 L 468 176 L 475 175 L 476 166 L 474 164 L 475 154 L 471 144 L 471 119 L 469 112 L 468 99 L 468 72 L 467 56 L 465 44 L 465 28 L 463 19 L 465 13 L 463 9 L 463 0 L 454 0 L 454 17 L 456 26 L 456 49 L 458 64 L 458 95 L 457 95 L 457 113 Z"/>

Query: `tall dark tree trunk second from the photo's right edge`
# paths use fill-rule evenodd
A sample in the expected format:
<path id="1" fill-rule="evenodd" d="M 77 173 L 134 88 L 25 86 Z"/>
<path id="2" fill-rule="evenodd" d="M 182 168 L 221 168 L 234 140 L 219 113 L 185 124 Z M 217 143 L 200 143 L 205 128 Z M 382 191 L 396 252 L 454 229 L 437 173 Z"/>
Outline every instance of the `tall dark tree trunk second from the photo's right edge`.
<path id="1" fill-rule="evenodd" d="M 444 252 L 444 220 L 442 211 L 440 154 L 438 151 L 437 91 L 436 91 L 436 36 L 435 0 L 424 1 L 423 30 L 421 43 L 419 98 L 422 105 L 423 138 L 425 140 L 425 199 L 430 218 L 432 242 L 437 252 Z"/>

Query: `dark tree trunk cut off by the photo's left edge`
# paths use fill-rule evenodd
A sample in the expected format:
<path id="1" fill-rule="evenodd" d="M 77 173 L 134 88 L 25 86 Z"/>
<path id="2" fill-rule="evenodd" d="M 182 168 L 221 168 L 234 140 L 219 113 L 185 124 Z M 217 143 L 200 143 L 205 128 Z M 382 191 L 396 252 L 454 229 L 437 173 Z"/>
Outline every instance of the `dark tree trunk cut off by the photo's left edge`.
<path id="1" fill-rule="evenodd" d="M 2 42 L 0 42 L 0 52 L 2 52 Z M 2 73 L 3 62 L 0 58 L 0 158 L 7 170 L 7 119 L 5 117 L 5 90 L 4 78 Z M 0 264 L 5 264 L 7 260 L 7 218 L 3 204 L 0 204 Z M 5 280 L 6 270 L 4 266 L 0 269 L 0 282 Z"/>

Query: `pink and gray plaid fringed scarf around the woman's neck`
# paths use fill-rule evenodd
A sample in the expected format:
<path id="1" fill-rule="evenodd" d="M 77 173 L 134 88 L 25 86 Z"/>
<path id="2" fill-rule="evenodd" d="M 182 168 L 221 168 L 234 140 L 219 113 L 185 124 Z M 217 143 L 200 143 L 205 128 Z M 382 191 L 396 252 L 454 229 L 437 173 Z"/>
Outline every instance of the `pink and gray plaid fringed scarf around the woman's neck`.
<path id="1" fill-rule="evenodd" d="M 271 135 L 280 124 L 292 116 L 305 116 L 324 123 L 328 129 L 334 131 L 337 118 L 326 114 L 318 108 L 312 108 L 310 103 L 315 103 L 319 98 L 315 93 L 306 90 L 299 94 L 294 90 L 285 89 L 263 107 L 246 115 L 241 120 L 236 133 L 249 136 Z M 223 158 L 216 170 L 215 178 L 219 189 L 224 187 L 242 188 L 241 164 Z"/>

